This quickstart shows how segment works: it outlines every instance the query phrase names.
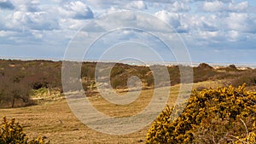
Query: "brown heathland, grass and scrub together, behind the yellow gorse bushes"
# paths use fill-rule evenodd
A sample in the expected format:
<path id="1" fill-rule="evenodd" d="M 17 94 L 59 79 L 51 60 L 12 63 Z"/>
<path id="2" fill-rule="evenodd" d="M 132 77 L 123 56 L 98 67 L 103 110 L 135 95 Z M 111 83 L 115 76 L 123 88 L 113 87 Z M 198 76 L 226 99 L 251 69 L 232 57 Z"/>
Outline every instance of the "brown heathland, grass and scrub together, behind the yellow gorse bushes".
<path id="1" fill-rule="evenodd" d="M 104 65 L 110 66 L 109 63 Z M 213 68 L 205 63 L 192 68 L 194 89 L 202 90 L 247 83 L 247 89 L 256 90 L 256 69 L 241 70 L 234 65 Z M 89 95 L 88 100 L 100 112 L 112 117 L 127 117 L 141 112 L 148 106 L 151 95 L 154 93 L 154 77 L 148 66 L 125 64 L 113 66 L 110 83 L 120 95 L 127 92 L 127 79 L 131 76 L 137 76 L 143 82 L 143 91 L 137 101 L 125 106 L 111 104 L 101 97 L 96 89 L 95 69 L 95 62 L 84 62 L 81 67 L 81 80 L 86 95 Z M 179 94 L 179 66 L 167 66 L 167 70 L 170 73 L 172 87 L 165 87 L 164 81 L 162 85 L 157 85 L 157 89 L 171 89 L 168 106 L 172 107 Z M 43 135 L 51 143 L 122 144 L 146 141 L 150 125 L 130 135 L 106 135 L 90 130 L 82 124 L 68 107 L 65 95 L 62 95 L 61 61 L 0 60 L 0 78 L 2 82 L 0 83 L 1 115 L 16 118 L 20 124 L 24 125 L 26 134 L 32 139 Z M 136 95 L 137 91 L 131 93 Z M 189 91 L 181 93 L 184 96 L 190 95 Z"/>

